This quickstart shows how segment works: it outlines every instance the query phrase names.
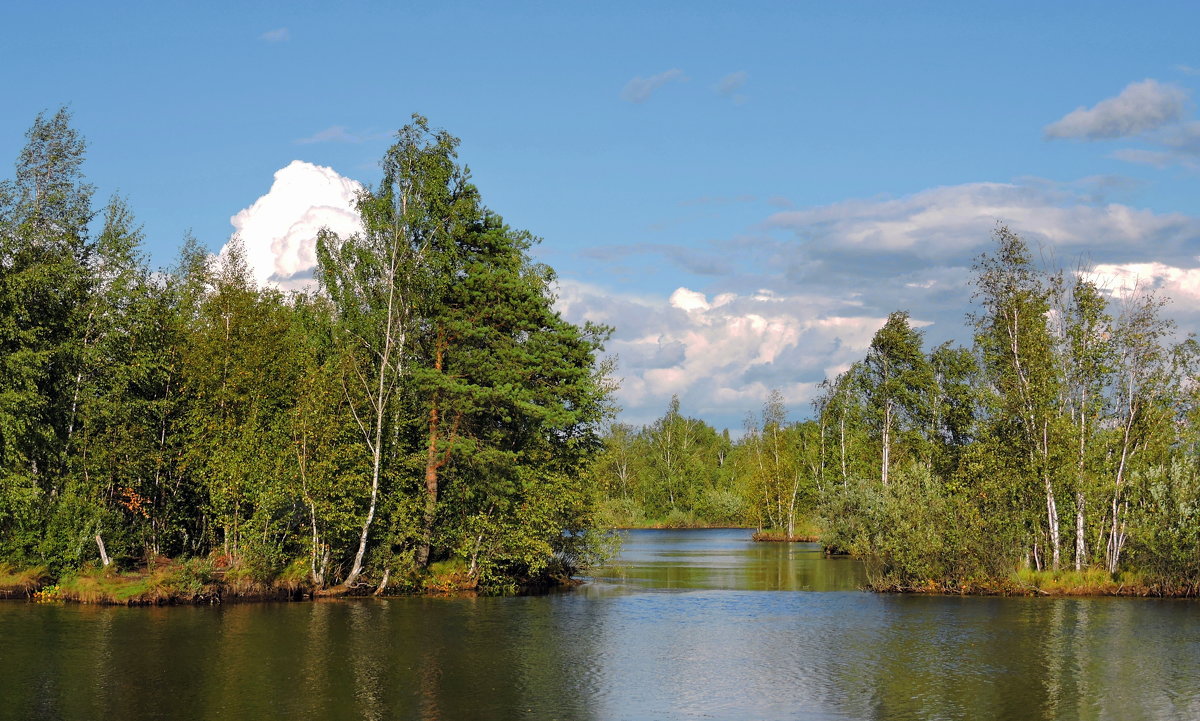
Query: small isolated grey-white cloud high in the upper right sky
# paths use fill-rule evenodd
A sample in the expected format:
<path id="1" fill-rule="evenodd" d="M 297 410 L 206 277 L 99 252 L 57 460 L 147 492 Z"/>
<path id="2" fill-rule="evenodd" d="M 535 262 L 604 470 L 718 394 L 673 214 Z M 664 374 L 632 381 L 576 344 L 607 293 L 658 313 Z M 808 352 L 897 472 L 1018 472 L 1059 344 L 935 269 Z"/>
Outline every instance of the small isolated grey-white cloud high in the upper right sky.
<path id="1" fill-rule="evenodd" d="M 1116 97 L 1076 108 L 1045 127 L 1046 138 L 1105 140 L 1160 128 L 1183 118 L 1187 91 L 1146 79 L 1130 83 Z"/>

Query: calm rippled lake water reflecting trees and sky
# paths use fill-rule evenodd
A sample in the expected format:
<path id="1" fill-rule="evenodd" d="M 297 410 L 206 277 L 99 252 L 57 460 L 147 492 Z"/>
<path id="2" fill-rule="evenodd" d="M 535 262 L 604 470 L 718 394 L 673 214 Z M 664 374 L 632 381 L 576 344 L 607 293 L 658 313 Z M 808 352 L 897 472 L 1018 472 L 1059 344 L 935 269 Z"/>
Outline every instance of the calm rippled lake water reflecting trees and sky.
<path id="1" fill-rule="evenodd" d="M 1200 719 L 1200 603 L 858 591 L 749 531 L 632 531 L 570 593 L 0 603 L 0 719 Z"/>

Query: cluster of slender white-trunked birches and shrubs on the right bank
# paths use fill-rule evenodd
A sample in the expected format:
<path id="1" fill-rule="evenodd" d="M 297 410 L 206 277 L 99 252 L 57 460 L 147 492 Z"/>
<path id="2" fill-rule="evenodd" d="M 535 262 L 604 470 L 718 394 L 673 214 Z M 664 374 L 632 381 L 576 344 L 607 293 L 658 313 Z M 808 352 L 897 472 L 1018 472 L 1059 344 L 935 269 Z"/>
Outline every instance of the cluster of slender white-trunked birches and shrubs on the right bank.
<path id="1" fill-rule="evenodd" d="M 818 398 L 826 542 L 882 588 L 996 588 L 1025 569 L 1195 594 L 1200 347 L 1166 300 L 1040 269 L 1007 228 L 972 284 L 971 349 L 925 353 L 893 313 Z"/>

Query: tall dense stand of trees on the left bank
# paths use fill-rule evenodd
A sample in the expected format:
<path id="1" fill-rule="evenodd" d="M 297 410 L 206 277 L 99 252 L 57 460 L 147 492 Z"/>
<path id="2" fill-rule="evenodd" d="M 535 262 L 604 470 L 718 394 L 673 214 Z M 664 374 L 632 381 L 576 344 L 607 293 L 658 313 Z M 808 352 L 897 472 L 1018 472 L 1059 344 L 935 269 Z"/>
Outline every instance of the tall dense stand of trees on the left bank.
<path id="1" fill-rule="evenodd" d="M 0 184 L 0 565 L 511 589 L 592 558 L 607 330 L 554 312 L 456 146 L 414 115 L 362 232 L 282 293 L 236 240 L 150 270 L 68 114 L 38 116 Z"/>

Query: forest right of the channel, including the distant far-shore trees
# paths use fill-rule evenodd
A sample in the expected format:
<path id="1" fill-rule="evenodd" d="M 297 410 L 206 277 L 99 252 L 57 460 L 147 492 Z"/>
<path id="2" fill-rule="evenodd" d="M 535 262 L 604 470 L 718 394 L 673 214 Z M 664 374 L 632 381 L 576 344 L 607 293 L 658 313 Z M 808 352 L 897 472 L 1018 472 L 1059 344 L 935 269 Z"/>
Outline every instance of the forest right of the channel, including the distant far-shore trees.
<path id="1" fill-rule="evenodd" d="M 677 401 L 613 426 L 608 518 L 799 524 L 863 558 L 876 589 L 1021 590 L 1042 573 L 1196 594 L 1200 346 L 1166 299 L 1045 270 L 1007 228 L 995 241 L 973 269 L 971 348 L 926 349 L 896 312 L 811 420 L 786 422 L 776 393 L 736 443 Z"/>

